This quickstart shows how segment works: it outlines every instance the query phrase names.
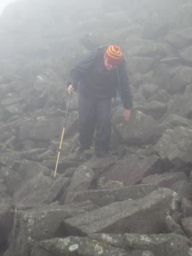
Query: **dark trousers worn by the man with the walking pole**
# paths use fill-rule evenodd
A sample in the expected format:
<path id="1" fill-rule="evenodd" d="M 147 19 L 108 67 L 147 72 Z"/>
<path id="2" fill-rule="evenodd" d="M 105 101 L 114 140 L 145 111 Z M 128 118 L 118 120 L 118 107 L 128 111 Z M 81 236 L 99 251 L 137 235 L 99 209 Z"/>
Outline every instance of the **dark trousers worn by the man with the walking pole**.
<path id="1" fill-rule="evenodd" d="M 89 148 L 96 128 L 95 149 L 109 150 L 111 99 L 95 99 L 79 94 L 79 142 Z"/>

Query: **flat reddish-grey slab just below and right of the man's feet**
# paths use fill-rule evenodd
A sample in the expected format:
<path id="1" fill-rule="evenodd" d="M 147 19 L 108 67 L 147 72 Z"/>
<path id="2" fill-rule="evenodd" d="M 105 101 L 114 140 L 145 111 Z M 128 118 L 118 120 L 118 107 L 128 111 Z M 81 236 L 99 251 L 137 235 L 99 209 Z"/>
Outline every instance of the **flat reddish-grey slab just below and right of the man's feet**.
<path id="1" fill-rule="evenodd" d="M 149 157 L 137 154 L 126 154 L 121 162 L 105 171 L 102 176 L 107 181 L 121 181 L 126 185 L 135 185 L 141 182 L 142 178 L 159 172 L 161 161 L 157 155 Z"/>

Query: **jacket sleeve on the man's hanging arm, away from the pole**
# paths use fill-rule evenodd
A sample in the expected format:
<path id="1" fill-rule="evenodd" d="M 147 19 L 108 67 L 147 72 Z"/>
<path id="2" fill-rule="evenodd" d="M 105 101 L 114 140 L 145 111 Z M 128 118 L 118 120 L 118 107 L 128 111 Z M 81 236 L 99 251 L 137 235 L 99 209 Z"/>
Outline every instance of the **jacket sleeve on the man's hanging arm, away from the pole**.
<path id="1" fill-rule="evenodd" d="M 119 94 L 123 101 L 123 107 L 125 109 L 132 109 L 133 107 L 133 95 L 129 84 L 129 78 L 127 75 L 126 62 L 123 59 L 121 65 L 118 67 L 119 75 Z"/>

